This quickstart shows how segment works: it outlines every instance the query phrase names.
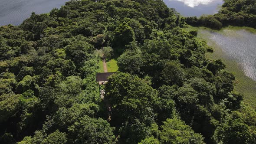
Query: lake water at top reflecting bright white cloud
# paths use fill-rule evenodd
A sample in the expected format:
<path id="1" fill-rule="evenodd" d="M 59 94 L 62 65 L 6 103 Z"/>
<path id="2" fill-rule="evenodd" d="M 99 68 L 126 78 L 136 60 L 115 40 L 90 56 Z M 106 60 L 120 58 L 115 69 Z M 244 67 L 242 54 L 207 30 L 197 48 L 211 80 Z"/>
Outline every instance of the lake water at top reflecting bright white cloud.
<path id="1" fill-rule="evenodd" d="M 164 0 L 167 7 L 174 8 L 182 16 L 202 16 L 215 14 L 220 10 L 223 0 Z"/>

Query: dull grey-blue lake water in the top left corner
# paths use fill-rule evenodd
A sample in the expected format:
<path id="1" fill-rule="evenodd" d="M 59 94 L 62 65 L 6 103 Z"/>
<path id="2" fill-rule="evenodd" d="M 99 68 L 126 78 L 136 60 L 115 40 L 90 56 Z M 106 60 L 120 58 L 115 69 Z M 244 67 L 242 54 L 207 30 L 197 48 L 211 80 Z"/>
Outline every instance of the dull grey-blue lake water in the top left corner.
<path id="1" fill-rule="evenodd" d="M 0 0 L 0 26 L 20 25 L 31 13 L 49 13 L 69 0 Z"/>

